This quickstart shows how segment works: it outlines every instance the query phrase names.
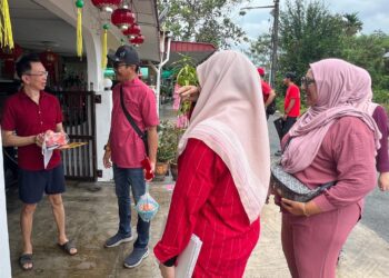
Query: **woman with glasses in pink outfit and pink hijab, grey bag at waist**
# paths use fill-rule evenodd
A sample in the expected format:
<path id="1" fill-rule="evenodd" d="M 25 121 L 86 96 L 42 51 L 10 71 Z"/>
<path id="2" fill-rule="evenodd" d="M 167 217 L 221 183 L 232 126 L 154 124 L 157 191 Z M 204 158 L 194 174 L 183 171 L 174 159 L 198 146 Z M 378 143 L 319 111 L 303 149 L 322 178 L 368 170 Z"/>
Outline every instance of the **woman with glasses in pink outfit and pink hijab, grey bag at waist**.
<path id="1" fill-rule="evenodd" d="M 381 135 L 371 116 L 351 105 L 356 95 L 368 93 L 359 90 L 368 82 L 359 69 L 338 59 L 311 63 L 302 80 L 310 108 L 282 140 L 286 171 L 310 188 L 336 181 L 306 203 L 281 200 L 282 248 L 292 277 L 336 276 L 339 251 L 376 185 Z"/>

